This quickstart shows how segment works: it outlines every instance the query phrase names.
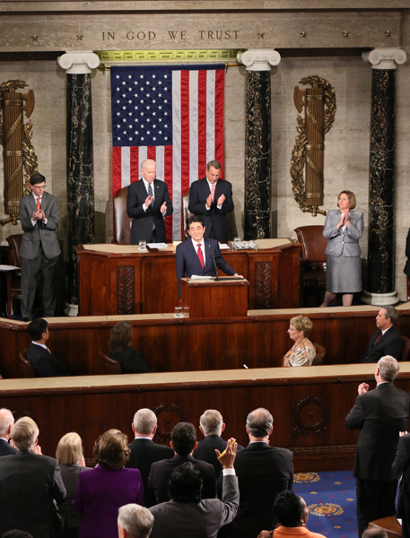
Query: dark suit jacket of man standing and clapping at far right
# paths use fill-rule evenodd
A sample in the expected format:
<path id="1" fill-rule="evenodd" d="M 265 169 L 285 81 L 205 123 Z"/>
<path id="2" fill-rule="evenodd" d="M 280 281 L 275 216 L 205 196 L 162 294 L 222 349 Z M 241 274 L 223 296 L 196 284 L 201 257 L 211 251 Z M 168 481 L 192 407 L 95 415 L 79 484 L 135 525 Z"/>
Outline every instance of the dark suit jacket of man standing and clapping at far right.
<path id="1" fill-rule="evenodd" d="M 389 482 L 397 479 L 391 465 L 396 456 L 398 432 L 408 430 L 410 396 L 392 383 L 358 395 L 346 417 L 349 430 L 360 430 L 353 476 Z"/>

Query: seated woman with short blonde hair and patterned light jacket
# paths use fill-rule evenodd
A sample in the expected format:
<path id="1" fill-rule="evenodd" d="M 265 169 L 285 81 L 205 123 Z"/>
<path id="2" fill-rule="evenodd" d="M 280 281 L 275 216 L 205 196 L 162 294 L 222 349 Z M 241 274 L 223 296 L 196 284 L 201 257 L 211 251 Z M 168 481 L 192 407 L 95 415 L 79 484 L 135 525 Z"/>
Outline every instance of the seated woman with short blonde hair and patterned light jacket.
<path id="1" fill-rule="evenodd" d="M 282 366 L 311 366 L 316 357 L 316 350 L 308 336 L 312 330 L 312 322 L 309 317 L 292 317 L 288 334 L 294 341 L 292 349 L 286 353 Z"/>

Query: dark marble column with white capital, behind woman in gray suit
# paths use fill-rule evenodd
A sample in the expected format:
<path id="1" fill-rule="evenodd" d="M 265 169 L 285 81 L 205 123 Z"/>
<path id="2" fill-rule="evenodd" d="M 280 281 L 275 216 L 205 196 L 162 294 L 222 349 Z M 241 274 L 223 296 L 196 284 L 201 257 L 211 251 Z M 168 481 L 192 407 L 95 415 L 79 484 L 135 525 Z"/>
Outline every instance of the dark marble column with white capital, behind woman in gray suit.
<path id="1" fill-rule="evenodd" d="M 362 54 L 371 63 L 371 154 L 369 170 L 369 254 L 362 301 L 387 306 L 399 302 L 395 290 L 395 93 L 401 48 L 374 48 Z"/>

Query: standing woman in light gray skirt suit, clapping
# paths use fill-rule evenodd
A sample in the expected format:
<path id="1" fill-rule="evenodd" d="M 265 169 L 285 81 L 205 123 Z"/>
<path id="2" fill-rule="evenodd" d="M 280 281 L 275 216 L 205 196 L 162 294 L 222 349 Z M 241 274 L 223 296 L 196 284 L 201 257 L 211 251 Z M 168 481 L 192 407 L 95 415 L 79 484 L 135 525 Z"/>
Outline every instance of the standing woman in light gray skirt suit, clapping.
<path id="1" fill-rule="evenodd" d="M 356 196 L 351 191 L 342 191 L 337 205 L 339 209 L 331 209 L 327 213 L 323 230 L 329 242 L 326 249 L 326 293 L 321 307 L 327 307 L 336 293 L 342 293 L 343 306 L 350 307 L 353 293 L 362 291 L 359 239 L 363 233 L 363 213 L 353 211 Z"/>

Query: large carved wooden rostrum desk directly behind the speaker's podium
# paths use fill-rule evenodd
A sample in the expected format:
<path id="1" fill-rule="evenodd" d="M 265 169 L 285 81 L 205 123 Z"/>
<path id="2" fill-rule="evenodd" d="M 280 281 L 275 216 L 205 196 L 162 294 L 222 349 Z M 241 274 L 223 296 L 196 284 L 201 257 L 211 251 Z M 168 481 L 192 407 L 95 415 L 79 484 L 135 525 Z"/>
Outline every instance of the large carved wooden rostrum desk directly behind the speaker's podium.
<path id="1" fill-rule="evenodd" d="M 290 239 L 266 240 L 283 246 L 222 250 L 222 256 L 249 280 L 249 308 L 298 308 L 301 245 Z M 81 316 L 174 311 L 178 304 L 175 247 L 152 252 L 112 244 L 75 249 Z"/>

